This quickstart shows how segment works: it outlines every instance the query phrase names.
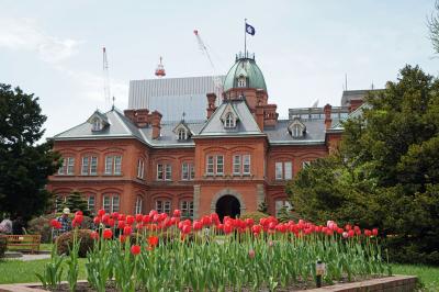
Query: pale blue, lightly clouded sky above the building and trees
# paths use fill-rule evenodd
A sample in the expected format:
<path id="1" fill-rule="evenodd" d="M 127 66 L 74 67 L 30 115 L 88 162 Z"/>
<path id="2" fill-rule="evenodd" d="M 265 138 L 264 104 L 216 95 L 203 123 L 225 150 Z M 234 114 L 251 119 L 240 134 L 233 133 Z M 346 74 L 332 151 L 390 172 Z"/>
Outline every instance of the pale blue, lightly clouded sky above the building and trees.
<path id="1" fill-rule="evenodd" d="M 130 80 L 225 75 L 244 50 L 244 19 L 269 102 L 288 109 L 340 105 L 349 90 L 383 88 L 406 64 L 438 76 L 428 40 L 434 0 L 97 1 L 0 0 L 0 82 L 40 98 L 44 138 L 106 111 L 102 47 L 115 106 Z M 214 68 L 196 43 L 204 41 Z"/>

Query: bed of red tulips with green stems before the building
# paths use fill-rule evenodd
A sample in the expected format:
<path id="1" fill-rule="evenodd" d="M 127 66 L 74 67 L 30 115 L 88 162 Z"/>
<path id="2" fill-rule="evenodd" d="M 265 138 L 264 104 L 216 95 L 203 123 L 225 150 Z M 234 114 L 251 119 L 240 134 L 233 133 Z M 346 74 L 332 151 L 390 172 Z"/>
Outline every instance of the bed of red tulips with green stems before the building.
<path id="1" fill-rule="evenodd" d="M 77 213 L 74 226 L 81 222 Z M 326 226 L 274 217 L 219 222 L 216 214 L 199 221 L 180 220 L 151 211 L 147 215 L 105 214 L 94 218 L 99 228 L 87 255 L 89 285 L 105 291 L 260 291 L 313 288 L 316 261 L 325 263 L 324 284 L 390 274 L 378 231 L 358 226 Z M 54 222 L 53 226 L 57 225 Z M 117 235 L 117 236 L 116 236 Z M 77 289 L 78 260 L 74 240 L 68 257 L 52 254 L 43 285 L 59 285 L 59 267 L 66 258 L 67 279 Z"/>

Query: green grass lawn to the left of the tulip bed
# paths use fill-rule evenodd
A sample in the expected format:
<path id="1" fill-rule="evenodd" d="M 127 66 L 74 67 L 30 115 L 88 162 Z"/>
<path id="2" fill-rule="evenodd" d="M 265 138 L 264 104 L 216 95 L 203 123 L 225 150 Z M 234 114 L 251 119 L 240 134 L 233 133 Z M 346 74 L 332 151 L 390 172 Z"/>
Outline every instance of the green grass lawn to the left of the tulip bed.
<path id="1" fill-rule="evenodd" d="M 40 282 L 35 273 L 43 273 L 44 263 L 48 259 L 42 260 L 0 260 L 0 284 L 7 283 L 29 283 Z M 86 280 L 86 259 L 79 259 L 79 278 Z M 63 280 L 66 280 L 67 266 L 64 268 Z"/>

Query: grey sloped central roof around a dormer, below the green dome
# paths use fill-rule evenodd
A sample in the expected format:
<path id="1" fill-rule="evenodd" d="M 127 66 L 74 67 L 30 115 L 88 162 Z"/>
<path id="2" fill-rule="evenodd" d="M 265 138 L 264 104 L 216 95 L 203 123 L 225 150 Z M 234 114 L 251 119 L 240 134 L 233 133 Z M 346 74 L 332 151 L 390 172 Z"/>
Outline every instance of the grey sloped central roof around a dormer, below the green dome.
<path id="1" fill-rule="evenodd" d="M 224 127 L 224 123 L 222 121 L 223 114 L 233 110 L 236 113 L 236 117 L 239 122 L 236 124 L 234 128 Z M 203 126 L 200 134 L 198 136 L 243 136 L 243 135 L 258 135 L 263 134 L 260 132 L 258 124 L 255 121 L 254 115 L 247 106 L 245 100 L 233 100 L 225 101 L 223 104 L 216 109 L 216 111 L 212 114 L 211 119 L 209 119 L 207 123 Z"/>

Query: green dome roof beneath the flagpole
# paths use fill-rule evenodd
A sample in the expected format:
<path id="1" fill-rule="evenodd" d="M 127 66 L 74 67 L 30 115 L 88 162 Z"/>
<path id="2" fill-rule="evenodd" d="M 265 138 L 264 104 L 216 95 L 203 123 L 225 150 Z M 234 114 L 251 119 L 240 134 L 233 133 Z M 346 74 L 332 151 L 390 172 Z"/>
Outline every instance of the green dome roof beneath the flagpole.
<path id="1" fill-rule="evenodd" d="M 263 89 L 267 91 L 266 80 L 263 79 L 262 71 L 256 65 L 255 58 L 236 57 L 235 65 L 228 70 L 224 79 L 224 91 L 230 88 L 238 88 L 238 78 L 246 78 L 245 88 Z"/>

